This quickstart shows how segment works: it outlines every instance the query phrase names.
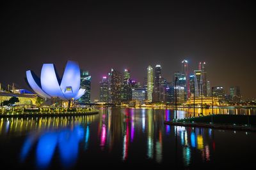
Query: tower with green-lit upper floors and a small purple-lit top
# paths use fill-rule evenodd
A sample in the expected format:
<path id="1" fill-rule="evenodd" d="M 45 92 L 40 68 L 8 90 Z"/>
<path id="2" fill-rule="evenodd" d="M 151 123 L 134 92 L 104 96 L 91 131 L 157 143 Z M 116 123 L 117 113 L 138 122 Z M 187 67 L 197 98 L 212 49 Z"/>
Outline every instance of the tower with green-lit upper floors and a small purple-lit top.
<path id="1" fill-rule="evenodd" d="M 130 78 L 131 78 L 130 71 L 128 69 L 124 69 L 124 81 L 123 81 L 122 90 L 121 90 L 122 102 L 132 100 L 132 89 L 131 89 Z"/>

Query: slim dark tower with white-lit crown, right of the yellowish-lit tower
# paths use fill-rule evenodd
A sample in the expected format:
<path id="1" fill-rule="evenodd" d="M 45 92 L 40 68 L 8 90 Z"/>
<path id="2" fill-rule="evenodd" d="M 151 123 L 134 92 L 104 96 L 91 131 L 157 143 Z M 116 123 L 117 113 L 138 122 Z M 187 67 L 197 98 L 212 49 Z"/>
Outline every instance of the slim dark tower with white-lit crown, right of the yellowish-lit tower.
<path id="1" fill-rule="evenodd" d="M 159 64 L 155 68 L 155 78 L 154 78 L 154 90 L 153 90 L 153 101 L 160 102 L 160 78 L 161 78 L 162 68 Z"/>

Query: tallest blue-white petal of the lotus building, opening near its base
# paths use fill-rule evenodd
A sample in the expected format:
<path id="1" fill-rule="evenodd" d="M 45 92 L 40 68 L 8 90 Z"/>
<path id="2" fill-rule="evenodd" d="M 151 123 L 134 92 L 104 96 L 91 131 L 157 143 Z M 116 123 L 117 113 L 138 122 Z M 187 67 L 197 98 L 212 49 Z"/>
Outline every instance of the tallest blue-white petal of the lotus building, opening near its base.
<path id="1" fill-rule="evenodd" d="M 60 88 L 66 99 L 74 98 L 80 88 L 80 69 L 77 62 L 68 60 Z"/>

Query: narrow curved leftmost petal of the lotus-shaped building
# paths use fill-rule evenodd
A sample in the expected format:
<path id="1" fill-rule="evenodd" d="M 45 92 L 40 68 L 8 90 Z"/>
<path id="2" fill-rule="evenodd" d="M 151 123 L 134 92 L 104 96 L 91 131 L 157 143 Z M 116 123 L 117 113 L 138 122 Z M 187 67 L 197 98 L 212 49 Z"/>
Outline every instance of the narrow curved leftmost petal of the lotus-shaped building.
<path id="1" fill-rule="evenodd" d="M 30 87 L 34 90 L 34 92 L 36 94 L 38 94 L 38 96 L 40 97 L 44 97 L 44 98 L 51 98 L 49 95 L 47 95 L 40 87 L 39 85 L 36 83 L 36 81 L 34 80 L 32 73 L 30 70 L 26 71 L 26 76 L 27 76 L 27 80 L 28 83 L 30 85 Z"/>

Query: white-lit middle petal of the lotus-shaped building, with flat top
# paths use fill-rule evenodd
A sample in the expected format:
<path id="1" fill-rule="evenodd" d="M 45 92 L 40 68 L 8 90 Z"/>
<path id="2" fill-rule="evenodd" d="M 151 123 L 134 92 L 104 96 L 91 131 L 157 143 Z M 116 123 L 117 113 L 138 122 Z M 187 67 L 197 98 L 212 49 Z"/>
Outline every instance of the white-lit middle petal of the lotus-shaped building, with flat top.
<path id="1" fill-rule="evenodd" d="M 44 92 L 49 94 L 49 96 L 67 100 L 61 92 L 53 64 L 43 65 L 41 71 L 41 86 Z"/>

